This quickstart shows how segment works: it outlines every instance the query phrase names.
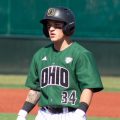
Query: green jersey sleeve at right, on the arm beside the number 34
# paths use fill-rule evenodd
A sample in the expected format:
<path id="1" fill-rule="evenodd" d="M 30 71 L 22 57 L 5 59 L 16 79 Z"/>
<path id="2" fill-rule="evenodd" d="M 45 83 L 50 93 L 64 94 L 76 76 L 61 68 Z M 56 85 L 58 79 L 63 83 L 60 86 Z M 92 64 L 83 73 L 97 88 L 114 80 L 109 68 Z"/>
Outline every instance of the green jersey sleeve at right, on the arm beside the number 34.
<path id="1" fill-rule="evenodd" d="M 91 52 L 83 52 L 76 63 L 76 76 L 81 90 L 92 88 L 94 92 L 103 89 L 96 61 Z"/>

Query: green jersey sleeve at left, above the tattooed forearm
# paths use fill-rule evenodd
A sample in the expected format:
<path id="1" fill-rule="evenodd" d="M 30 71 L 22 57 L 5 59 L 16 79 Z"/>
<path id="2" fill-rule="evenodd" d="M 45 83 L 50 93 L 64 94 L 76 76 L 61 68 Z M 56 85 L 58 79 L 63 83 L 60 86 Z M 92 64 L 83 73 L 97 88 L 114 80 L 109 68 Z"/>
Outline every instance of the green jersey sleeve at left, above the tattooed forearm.
<path id="1" fill-rule="evenodd" d="M 36 91 L 40 91 L 38 67 L 37 67 L 37 60 L 35 55 L 33 56 L 33 59 L 30 65 L 30 70 L 27 76 L 25 86 L 31 89 L 34 89 Z"/>

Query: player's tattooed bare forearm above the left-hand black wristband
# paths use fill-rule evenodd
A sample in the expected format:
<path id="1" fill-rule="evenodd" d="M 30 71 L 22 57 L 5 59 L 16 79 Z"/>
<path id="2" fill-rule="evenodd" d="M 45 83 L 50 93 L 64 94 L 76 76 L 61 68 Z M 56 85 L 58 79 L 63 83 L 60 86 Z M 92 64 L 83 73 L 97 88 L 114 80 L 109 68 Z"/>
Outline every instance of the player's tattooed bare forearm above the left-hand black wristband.
<path id="1" fill-rule="evenodd" d="M 36 104 L 39 98 L 40 98 L 40 92 L 31 89 L 27 95 L 26 101 L 32 104 Z"/>

